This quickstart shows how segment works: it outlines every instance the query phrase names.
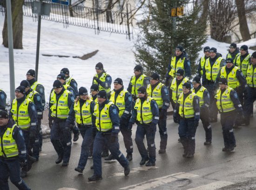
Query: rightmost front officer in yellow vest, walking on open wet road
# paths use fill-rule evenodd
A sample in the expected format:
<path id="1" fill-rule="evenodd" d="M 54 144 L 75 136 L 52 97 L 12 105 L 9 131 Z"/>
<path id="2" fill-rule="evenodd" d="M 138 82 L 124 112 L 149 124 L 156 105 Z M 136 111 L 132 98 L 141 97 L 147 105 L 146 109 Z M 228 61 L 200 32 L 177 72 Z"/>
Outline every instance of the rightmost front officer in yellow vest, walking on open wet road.
<path id="1" fill-rule="evenodd" d="M 230 152 L 236 147 L 236 139 L 233 132 L 234 118 L 236 118 L 237 113 L 243 115 L 243 108 L 236 91 L 228 86 L 226 78 L 221 78 L 219 85 L 220 88 L 217 90 L 215 98 L 217 100 L 217 108 L 221 114 L 224 139 L 224 148 L 222 148 L 222 151 Z"/>

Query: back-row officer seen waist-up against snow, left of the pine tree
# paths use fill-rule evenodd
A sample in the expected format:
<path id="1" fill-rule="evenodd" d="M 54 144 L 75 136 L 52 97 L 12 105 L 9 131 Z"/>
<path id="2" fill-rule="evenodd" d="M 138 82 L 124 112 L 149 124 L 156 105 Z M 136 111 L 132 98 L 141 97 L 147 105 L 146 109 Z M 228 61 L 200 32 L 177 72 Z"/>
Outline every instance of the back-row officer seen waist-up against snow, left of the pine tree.
<path id="1" fill-rule="evenodd" d="M 96 70 L 96 74 L 94 75 L 94 78 L 93 78 L 93 84 L 97 84 L 99 87 L 99 90 L 105 90 L 109 98 L 112 78 L 103 69 L 103 64 L 101 62 L 96 64 L 95 70 Z"/>

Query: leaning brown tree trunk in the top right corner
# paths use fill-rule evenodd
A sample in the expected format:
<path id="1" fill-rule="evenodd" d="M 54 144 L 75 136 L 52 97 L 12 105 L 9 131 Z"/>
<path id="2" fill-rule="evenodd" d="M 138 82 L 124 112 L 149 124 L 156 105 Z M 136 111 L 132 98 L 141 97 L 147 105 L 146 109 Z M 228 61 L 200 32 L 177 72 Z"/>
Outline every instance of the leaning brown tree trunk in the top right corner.
<path id="1" fill-rule="evenodd" d="M 237 7 L 241 36 L 243 38 L 243 41 L 247 41 L 251 37 L 250 37 L 250 32 L 249 32 L 249 28 L 246 20 L 244 0 L 236 0 L 236 7 Z"/>

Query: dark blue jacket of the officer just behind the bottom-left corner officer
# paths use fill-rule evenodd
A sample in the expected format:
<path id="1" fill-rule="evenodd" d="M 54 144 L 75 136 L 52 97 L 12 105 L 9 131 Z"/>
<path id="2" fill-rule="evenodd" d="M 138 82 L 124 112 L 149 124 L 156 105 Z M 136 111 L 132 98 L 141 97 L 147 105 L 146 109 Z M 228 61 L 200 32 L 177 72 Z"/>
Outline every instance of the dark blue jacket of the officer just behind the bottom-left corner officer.
<path id="1" fill-rule="evenodd" d="M 23 101 L 25 101 L 25 99 L 26 99 L 26 95 L 24 95 L 20 99 L 16 99 L 17 100 L 17 109 L 18 110 L 20 108 L 20 104 Z M 9 112 L 9 118 L 10 119 L 13 119 L 13 113 L 11 112 L 12 107 L 13 107 L 13 104 L 11 104 L 11 109 L 10 109 L 10 112 Z M 37 126 L 37 111 L 36 111 L 36 107 L 35 107 L 33 102 L 29 102 L 29 104 L 28 104 L 28 114 L 29 114 L 30 123 L 31 123 L 30 130 L 31 131 L 32 130 L 36 130 L 36 126 Z M 19 126 L 19 123 L 17 123 L 17 125 Z"/>

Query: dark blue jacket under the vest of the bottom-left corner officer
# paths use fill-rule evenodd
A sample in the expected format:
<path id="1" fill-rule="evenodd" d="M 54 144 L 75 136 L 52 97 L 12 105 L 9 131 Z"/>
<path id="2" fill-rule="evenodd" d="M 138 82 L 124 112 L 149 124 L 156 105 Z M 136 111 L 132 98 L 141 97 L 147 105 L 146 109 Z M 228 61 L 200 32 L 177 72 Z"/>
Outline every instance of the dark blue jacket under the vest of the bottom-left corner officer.
<path id="1" fill-rule="evenodd" d="M 3 138 L 3 135 L 6 132 L 7 127 L 11 128 L 11 127 L 13 127 L 14 124 L 15 124 L 15 121 L 13 119 L 9 119 L 6 126 L 0 126 L 1 139 Z M 15 140 L 15 142 L 18 146 L 20 161 L 25 161 L 26 153 L 27 153 L 26 145 L 25 145 L 25 140 L 24 140 L 22 131 L 19 127 L 15 127 L 13 129 L 13 139 Z"/>

